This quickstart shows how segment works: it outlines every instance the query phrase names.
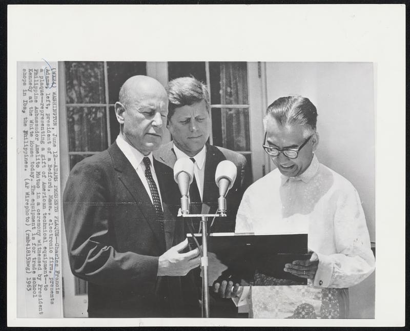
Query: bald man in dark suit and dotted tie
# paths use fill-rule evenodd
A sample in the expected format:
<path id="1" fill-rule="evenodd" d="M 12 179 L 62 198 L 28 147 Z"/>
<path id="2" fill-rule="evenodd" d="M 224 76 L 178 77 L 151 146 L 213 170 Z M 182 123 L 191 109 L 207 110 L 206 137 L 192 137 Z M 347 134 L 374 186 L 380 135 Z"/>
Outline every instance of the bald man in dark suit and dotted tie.
<path id="1" fill-rule="evenodd" d="M 133 76 L 115 104 L 120 134 L 72 169 L 64 219 L 73 274 L 88 281 L 89 317 L 189 317 L 198 298 L 190 278 L 198 250 L 182 251 L 183 223 L 173 170 L 152 156 L 162 141 L 168 98 Z"/>

